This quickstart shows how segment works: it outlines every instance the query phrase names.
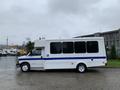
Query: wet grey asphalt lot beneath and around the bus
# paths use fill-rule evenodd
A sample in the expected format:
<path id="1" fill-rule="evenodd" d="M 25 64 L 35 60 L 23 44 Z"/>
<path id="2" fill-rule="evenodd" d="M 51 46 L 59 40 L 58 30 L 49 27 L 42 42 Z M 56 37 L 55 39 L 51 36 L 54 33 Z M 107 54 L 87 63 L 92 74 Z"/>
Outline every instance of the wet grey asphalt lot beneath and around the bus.
<path id="1" fill-rule="evenodd" d="M 119 68 L 31 71 L 15 66 L 16 57 L 0 57 L 0 90 L 119 90 Z"/>

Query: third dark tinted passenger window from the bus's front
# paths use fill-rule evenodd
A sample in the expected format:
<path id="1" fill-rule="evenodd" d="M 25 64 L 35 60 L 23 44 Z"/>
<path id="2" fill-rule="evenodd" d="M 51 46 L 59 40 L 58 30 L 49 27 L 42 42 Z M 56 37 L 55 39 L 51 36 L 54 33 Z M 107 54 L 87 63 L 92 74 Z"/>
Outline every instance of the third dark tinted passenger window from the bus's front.
<path id="1" fill-rule="evenodd" d="M 85 42 L 75 42 L 75 53 L 86 53 Z"/>

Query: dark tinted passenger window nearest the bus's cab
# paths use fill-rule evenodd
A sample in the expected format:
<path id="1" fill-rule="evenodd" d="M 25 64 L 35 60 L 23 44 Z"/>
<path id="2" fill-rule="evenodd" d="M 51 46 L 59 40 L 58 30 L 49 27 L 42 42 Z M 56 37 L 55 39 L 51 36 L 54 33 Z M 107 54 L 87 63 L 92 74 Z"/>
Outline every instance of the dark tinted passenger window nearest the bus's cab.
<path id="1" fill-rule="evenodd" d="M 61 42 L 53 42 L 50 44 L 50 53 L 51 54 L 60 54 L 62 52 Z"/>

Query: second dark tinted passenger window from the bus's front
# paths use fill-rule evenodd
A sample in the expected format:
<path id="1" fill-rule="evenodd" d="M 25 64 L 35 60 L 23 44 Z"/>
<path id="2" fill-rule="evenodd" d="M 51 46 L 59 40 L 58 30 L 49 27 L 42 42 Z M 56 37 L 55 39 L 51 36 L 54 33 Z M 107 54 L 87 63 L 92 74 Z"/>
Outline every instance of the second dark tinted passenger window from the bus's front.
<path id="1" fill-rule="evenodd" d="M 63 53 L 73 53 L 73 42 L 63 42 Z"/>

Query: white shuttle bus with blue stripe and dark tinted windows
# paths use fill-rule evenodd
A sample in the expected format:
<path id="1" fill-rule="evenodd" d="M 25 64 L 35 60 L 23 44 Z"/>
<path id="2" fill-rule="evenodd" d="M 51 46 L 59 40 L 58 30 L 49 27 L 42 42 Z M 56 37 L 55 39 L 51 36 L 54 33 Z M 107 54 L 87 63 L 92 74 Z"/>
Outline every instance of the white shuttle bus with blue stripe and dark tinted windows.
<path id="1" fill-rule="evenodd" d="M 35 49 L 38 51 L 37 54 L 28 54 L 18 58 L 22 71 L 76 69 L 80 65 L 86 69 L 105 66 L 107 63 L 103 37 L 36 40 Z"/>

